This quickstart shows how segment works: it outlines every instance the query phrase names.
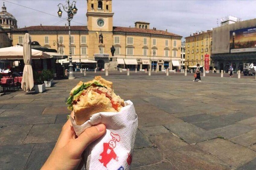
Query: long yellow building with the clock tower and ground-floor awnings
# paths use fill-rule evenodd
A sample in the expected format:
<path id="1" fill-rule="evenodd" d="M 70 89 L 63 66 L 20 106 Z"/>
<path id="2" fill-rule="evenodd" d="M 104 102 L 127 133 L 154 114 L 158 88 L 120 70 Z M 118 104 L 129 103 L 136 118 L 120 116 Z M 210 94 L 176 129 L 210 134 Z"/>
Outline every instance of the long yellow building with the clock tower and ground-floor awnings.
<path id="1" fill-rule="evenodd" d="M 138 21 L 135 27 L 113 26 L 112 0 L 87 0 L 87 26 L 71 26 L 73 62 L 98 61 L 99 68 L 131 70 L 180 69 L 181 38 L 167 30 L 150 29 L 150 23 Z M 22 44 L 24 32 L 32 41 L 60 54 L 69 55 L 68 26 L 29 26 L 16 29 L 13 44 Z M 115 48 L 112 56 L 110 48 Z"/>

